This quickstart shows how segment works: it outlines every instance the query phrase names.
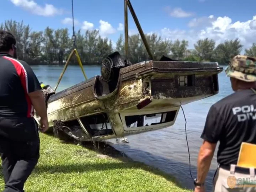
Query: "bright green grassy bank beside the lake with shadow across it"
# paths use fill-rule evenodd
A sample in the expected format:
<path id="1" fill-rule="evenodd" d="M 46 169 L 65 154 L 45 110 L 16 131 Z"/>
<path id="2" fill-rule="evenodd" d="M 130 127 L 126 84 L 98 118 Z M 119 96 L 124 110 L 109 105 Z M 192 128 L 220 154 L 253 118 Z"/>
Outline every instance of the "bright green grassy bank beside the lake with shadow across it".
<path id="1" fill-rule="evenodd" d="M 150 167 L 110 158 L 40 134 L 41 157 L 26 192 L 188 192 L 174 178 Z M 2 171 L 2 170 L 1 170 Z M 4 180 L 0 178 L 2 191 Z"/>

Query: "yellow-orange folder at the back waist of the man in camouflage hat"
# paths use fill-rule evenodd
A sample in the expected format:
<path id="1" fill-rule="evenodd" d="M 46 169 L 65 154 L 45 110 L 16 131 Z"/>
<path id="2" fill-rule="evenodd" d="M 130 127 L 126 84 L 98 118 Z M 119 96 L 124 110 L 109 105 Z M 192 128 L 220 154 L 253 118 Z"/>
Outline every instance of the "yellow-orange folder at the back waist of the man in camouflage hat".
<path id="1" fill-rule="evenodd" d="M 251 143 L 242 142 L 238 162 L 239 167 L 255 167 L 256 168 L 256 145 Z"/>

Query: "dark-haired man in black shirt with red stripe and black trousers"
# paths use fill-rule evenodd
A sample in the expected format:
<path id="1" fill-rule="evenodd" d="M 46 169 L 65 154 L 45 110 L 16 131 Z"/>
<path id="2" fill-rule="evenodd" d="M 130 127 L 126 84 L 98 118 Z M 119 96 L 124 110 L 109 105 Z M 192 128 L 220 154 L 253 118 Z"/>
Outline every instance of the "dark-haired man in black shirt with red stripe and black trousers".
<path id="1" fill-rule="evenodd" d="M 0 155 L 4 192 L 24 192 L 23 187 L 39 158 L 38 126 L 48 129 L 41 86 L 30 66 L 17 59 L 16 39 L 0 31 Z"/>

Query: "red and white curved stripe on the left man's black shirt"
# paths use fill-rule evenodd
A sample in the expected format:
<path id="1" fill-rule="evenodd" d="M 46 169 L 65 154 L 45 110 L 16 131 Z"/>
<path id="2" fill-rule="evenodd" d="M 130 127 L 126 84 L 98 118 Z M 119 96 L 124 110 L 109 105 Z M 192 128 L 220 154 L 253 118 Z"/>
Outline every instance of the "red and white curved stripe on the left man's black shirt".
<path id="1" fill-rule="evenodd" d="M 27 101 L 27 117 L 33 117 L 34 110 L 33 110 L 31 99 L 28 96 L 28 78 L 27 78 L 26 69 L 16 59 L 6 57 L 6 56 L 4 56 L 3 58 L 9 60 L 14 65 L 16 72 L 17 72 L 18 76 L 20 77 L 22 87 L 25 91 L 25 97 L 26 97 L 26 101 Z"/>

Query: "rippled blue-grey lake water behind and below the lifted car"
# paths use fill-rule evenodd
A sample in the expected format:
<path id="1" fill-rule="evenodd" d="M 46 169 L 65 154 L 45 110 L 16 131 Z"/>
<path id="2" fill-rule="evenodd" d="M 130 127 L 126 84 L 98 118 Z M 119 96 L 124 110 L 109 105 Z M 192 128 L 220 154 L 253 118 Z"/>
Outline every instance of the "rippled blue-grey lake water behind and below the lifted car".
<path id="1" fill-rule="evenodd" d="M 55 87 L 63 70 L 63 66 L 32 66 L 32 68 L 39 81 L 43 81 L 44 84 L 51 85 L 52 87 Z M 88 78 L 100 75 L 100 66 L 84 66 L 84 69 Z M 66 89 L 84 80 L 85 78 L 79 66 L 68 66 L 57 91 Z M 200 136 L 208 110 L 213 103 L 232 92 L 229 78 L 226 77 L 223 71 L 219 74 L 219 94 L 182 106 L 187 120 L 187 139 L 193 178 L 196 177 L 197 173 L 197 156 L 202 144 Z M 165 171 L 175 176 L 184 187 L 193 188 L 193 180 L 190 177 L 189 170 L 185 119 L 182 110 L 180 110 L 174 126 L 129 136 L 127 139 L 129 143 L 116 143 L 115 139 L 110 141 L 117 150 L 123 151 L 133 160 L 144 162 L 147 165 Z M 212 187 L 212 178 L 217 168 L 216 154 L 217 150 L 215 151 L 207 177 L 207 191 L 210 191 Z"/>

